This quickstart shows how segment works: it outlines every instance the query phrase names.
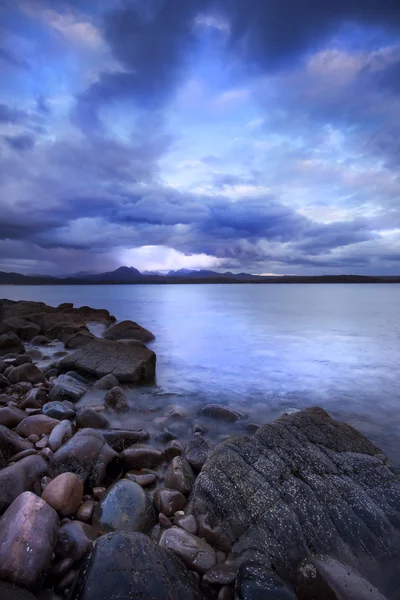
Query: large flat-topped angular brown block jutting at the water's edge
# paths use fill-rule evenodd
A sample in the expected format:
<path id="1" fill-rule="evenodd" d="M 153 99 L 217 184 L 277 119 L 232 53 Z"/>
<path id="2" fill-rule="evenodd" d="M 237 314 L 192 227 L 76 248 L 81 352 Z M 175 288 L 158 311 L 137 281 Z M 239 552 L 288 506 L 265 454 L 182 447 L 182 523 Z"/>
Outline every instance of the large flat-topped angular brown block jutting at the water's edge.
<path id="1" fill-rule="evenodd" d="M 64 357 L 58 368 L 64 372 L 76 370 L 96 379 L 111 373 L 121 383 L 146 383 L 153 381 L 155 365 L 156 355 L 147 348 L 94 339 L 84 348 Z"/>

